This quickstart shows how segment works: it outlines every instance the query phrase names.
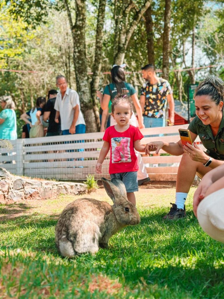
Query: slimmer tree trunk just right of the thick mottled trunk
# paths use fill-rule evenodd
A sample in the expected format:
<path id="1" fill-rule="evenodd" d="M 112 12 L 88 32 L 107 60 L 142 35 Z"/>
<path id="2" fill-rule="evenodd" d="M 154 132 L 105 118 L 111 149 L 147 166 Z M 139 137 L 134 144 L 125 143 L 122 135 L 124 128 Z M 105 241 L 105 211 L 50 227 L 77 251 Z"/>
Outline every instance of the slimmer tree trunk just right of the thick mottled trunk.
<path id="1" fill-rule="evenodd" d="M 96 26 L 95 59 L 93 64 L 93 77 L 90 83 L 91 94 L 93 99 L 93 111 L 95 114 L 96 126 L 98 131 L 100 129 L 100 119 L 99 119 L 99 109 L 96 100 L 96 91 L 99 88 L 99 78 L 100 78 L 100 71 L 102 66 L 103 25 L 104 25 L 104 18 L 105 18 L 105 7 L 106 7 L 106 0 L 99 0 L 99 9 L 98 9 L 97 26 Z"/>

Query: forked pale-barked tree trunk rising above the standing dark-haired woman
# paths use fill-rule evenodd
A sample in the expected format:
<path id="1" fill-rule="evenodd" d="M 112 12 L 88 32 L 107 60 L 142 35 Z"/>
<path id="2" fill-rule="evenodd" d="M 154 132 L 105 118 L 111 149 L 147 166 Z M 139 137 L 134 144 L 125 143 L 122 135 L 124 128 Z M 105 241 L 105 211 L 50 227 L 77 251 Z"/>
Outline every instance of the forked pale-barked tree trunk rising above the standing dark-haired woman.
<path id="1" fill-rule="evenodd" d="M 145 4 L 142 5 L 141 8 L 139 8 L 138 11 L 134 13 L 133 20 L 129 20 L 129 14 L 132 8 L 136 8 L 136 4 L 134 1 L 127 1 L 123 0 L 122 9 L 119 11 L 120 15 L 119 18 L 121 18 L 121 24 L 120 24 L 120 33 L 119 33 L 119 41 L 118 41 L 118 48 L 117 52 L 114 57 L 114 64 L 120 65 L 124 62 L 125 58 L 125 52 L 128 47 L 128 43 L 131 39 L 131 36 L 136 29 L 140 19 L 142 18 L 145 11 L 148 9 L 148 7 L 151 5 L 151 0 L 148 0 L 145 2 Z M 130 24 L 130 25 L 129 25 Z"/>

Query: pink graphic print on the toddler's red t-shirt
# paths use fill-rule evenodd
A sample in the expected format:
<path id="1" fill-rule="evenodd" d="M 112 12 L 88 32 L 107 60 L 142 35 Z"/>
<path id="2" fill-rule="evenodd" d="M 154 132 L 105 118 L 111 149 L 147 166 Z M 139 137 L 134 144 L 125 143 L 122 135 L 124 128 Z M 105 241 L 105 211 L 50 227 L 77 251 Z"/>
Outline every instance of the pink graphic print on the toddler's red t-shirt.
<path id="1" fill-rule="evenodd" d="M 111 138 L 112 163 L 131 162 L 130 140 L 128 137 Z"/>

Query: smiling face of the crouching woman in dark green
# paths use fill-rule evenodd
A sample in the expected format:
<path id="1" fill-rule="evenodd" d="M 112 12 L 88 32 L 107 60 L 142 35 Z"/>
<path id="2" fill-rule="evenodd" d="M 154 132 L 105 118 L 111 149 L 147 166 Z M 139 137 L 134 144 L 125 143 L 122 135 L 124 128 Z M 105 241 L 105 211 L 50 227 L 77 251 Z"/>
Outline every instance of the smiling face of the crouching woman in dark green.
<path id="1" fill-rule="evenodd" d="M 221 101 L 218 105 L 212 101 L 209 95 L 200 95 L 195 97 L 196 115 L 204 125 L 219 126 L 223 117 Z"/>

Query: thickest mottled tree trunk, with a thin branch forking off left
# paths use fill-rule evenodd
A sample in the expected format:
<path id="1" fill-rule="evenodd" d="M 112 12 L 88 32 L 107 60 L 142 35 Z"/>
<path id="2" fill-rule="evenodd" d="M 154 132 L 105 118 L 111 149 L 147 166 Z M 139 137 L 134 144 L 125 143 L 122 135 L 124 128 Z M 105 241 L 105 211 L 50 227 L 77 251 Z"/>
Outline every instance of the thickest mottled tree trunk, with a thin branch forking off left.
<path id="1" fill-rule="evenodd" d="M 72 31 L 74 44 L 73 63 L 75 66 L 76 86 L 79 94 L 81 109 L 86 122 L 86 132 L 96 132 L 96 119 L 93 112 L 91 100 L 90 83 L 87 76 L 86 42 L 85 42 L 85 21 L 86 5 L 85 0 L 76 0 L 76 21 L 73 25 L 70 8 L 67 0 L 63 0 Z"/>

